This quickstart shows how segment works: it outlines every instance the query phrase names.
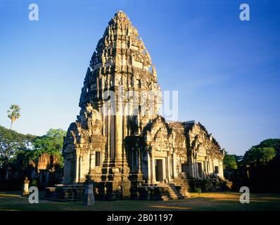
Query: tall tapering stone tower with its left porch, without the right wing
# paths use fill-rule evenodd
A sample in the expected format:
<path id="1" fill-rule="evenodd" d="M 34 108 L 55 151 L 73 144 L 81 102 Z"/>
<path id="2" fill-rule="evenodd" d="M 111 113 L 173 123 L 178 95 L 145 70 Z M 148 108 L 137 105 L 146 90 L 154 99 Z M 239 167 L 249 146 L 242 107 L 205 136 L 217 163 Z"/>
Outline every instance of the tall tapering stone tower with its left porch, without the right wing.
<path id="1" fill-rule="evenodd" d="M 144 42 L 122 11 L 108 23 L 89 66 L 81 110 L 64 143 L 65 184 L 84 182 L 89 174 L 112 198 L 125 197 L 130 188 L 125 139 L 140 135 L 157 115 L 160 86 Z"/>

